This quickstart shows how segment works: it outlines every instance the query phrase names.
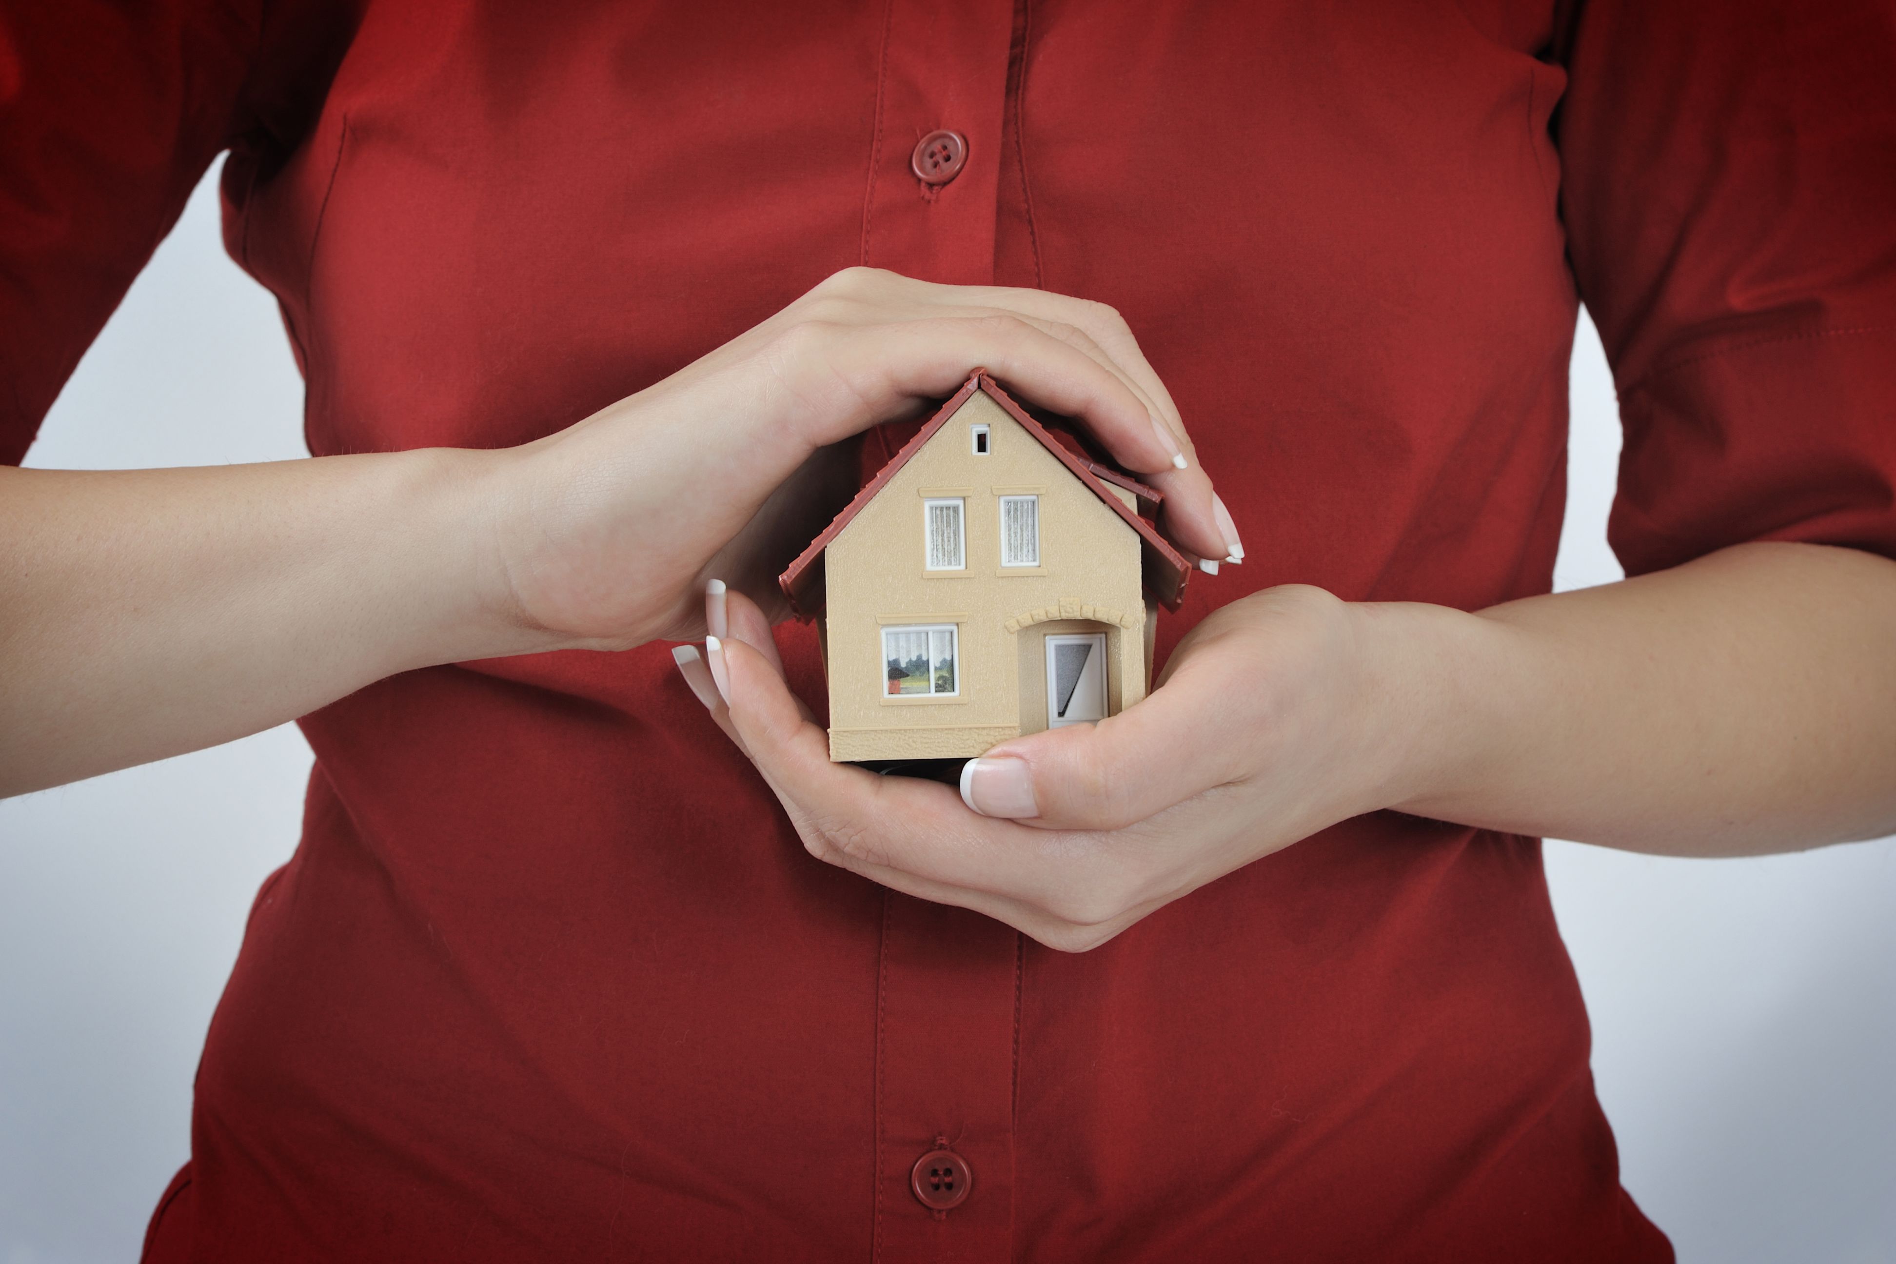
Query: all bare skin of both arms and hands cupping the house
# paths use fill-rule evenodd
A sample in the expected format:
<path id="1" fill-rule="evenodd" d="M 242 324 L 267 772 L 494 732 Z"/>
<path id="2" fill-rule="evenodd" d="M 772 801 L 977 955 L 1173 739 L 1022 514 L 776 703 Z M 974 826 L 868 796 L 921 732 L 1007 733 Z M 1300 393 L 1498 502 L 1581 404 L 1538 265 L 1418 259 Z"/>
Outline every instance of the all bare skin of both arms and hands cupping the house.
<path id="1" fill-rule="evenodd" d="M 681 671 L 811 855 L 1058 949 L 1386 807 L 1678 855 L 1896 830 L 1896 563 L 1807 544 L 1473 614 L 1244 597 L 1139 705 L 992 750 L 988 783 L 1020 794 L 982 804 L 976 777 L 975 804 L 1018 819 L 830 764 L 781 678 L 781 610 L 700 595 L 709 576 L 770 593 L 775 544 L 834 508 L 827 445 L 975 364 L 1157 481 L 1185 550 L 1242 557 L 1198 464 L 1174 468 L 1177 409 L 1115 313 L 857 269 L 508 453 L 0 472 L 0 790 L 226 741 L 391 671 L 709 631 Z"/>

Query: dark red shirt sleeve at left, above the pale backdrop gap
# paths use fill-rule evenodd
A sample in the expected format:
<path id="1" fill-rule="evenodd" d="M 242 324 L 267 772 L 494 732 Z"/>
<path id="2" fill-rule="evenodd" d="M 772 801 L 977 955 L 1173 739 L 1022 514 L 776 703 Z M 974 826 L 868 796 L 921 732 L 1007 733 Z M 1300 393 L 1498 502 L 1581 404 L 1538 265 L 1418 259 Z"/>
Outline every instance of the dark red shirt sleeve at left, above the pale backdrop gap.
<path id="1" fill-rule="evenodd" d="M 229 142 L 258 25 L 233 0 L 0 0 L 0 462 Z"/>

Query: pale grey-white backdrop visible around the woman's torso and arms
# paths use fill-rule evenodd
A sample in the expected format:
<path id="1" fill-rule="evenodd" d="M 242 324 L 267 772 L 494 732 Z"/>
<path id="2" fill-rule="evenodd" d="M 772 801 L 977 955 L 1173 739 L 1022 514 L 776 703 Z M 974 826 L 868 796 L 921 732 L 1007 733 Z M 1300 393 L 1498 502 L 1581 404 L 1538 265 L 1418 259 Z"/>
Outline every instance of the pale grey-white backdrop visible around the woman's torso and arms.
<path id="1" fill-rule="evenodd" d="M 1617 451 L 1583 322 L 1559 587 L 1619 578 Z M 301 383 L 275 305 L 224 258 L 207 180 L 28 464 L 300 455 Z M 307 769 L 284 726 L 0 802 L 0 1264 L 137 1258 Z M 1714 862 L 1549 843 L 1547 870 L 1625 1184 L 1680 1258 L 1896 1260 L 1896 847 Z"/>

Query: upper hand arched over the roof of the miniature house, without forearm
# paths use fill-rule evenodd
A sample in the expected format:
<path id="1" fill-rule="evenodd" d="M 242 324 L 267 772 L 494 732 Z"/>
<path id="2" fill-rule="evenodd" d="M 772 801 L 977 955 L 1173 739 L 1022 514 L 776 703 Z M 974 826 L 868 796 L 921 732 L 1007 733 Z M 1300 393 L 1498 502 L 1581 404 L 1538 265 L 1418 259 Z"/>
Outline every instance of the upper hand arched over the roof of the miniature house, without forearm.
<path id="1" fill-rule="evenodd" d="M 694 639 L 713 574 L 781 614 L 774 576 L 855 491 L 853 455 L 832 445 L 920 415 L 975 366 L 1081 419 L 1164 491 L 1185 551 L 1242 555 L 1111 307 L 851 267 L 647 390 L 497 453 L 491 608 L 548 648 Z"/>

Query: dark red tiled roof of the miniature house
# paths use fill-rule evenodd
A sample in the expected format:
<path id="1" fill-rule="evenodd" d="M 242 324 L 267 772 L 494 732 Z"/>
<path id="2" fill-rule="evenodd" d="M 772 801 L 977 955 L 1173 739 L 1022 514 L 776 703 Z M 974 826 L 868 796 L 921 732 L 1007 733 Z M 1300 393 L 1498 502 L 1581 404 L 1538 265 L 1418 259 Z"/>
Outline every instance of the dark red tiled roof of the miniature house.
<path id="1" fill-rule="evenodd" d="M 1020 423 L 1020 428 L 1031 434 L 1039 443 L 1050 451 L 1060 464 L 1064 464 L 1073 478 L 1086 485 L 1100 500 L 1119 514 L 1132 531 L 1139 536 L 1139 572 L 1145 582 L 1145 591 L 1157 597 L 1168 610 L 1177 610 L 1179 603 L 1185 599 L 1185 580 L 1191 578 L 1191 563 L 1185 561 L 1183 553 L 1172 548 L 1158 529 L 1153 527 L 1145 517 L 1126 508 L 1126 502 L 1105 489 L 1105 483 L 1115 483 L 1124 487 L 1134 495 L 1141 510 L 1157 512 L 1164 497 L 1145 483 L 1126 476 L 1122 470 L 1115 470 L 1105 462 L 1094 460 L 1081 447 L 1079 440 L 1071 434 L 1060 434 L 1041 424 L 1026 413 L 1001 387 L 988 377 L 986 370 L 975 370 L 967 383 L 950 398 L 940 409 L 929 417 L 929 421 L 916 432 L 912 440 L 902 443 L 902 449 L 895 453 L 876 478 L 863 485 L 863 491 L 855 493 L 855 498 L 844 506 L 842 514 L 823 529 L 815 540 L 810 542 L 796 561 L 777 576 L 777 586 L 783 595 L 791 599 L 791 606 L 802 616 L 813 616 L 823 608 L 823 569 L 817 567 L 817 559 L 823 557 L 823 550 L 829 548 L 830 540 L 842 534 L 842 529 L 863 510 L 865 504 L 876 498 L 889 479 L 895 478 L 897 470 L 908 464 L 908 459 L 921 451 L 921 445 L 935 438 L 935 432 L 948 424 L 948 419 L 961 411 L 961 406 L 980 390 L 990 400 L 1007 409 L 1007 415 Z"/>

